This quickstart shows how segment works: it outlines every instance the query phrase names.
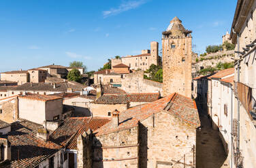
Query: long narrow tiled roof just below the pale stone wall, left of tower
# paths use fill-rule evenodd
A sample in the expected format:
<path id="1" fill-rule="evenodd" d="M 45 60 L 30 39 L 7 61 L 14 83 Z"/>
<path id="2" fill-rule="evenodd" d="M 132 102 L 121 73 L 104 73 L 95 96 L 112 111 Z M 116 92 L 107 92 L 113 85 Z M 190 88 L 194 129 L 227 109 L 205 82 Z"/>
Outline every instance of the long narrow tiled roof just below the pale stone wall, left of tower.
<path id="1" fill-rule="evenodd" d="M 127 104 L 127 102 L 154 102 L 160 98 L 160 93 L 126 93 L 103 94 L 95 101 L 97 104 Z"/>

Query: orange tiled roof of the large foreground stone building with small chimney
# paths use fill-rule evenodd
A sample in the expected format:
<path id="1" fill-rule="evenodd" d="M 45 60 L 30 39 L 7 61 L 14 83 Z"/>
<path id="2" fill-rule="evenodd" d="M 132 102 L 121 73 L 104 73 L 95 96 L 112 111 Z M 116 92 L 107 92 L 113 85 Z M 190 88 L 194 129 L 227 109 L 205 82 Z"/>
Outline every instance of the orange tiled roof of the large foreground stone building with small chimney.
<path id="1" fill-rule="evenodd" d="M 193 124 L 195 127 L 199 125 L 198 112 L 193 100 L 181 96 L 178 93 L 172 93 L 170 96 L 166 96 L 155 102 L 129 108 L 119 114 L 118 126 L 114 125 L 113 121 L 110 121 L 94 132 L 96 135 L 103 135 L 129 129 L 138 126 L 138 121 L 147 119 L 154 113 L 161 112 L 162 110 L 165 110 L 168 114 L 174 114 L 176 117 L 182 119 L 182 121 Z"/>

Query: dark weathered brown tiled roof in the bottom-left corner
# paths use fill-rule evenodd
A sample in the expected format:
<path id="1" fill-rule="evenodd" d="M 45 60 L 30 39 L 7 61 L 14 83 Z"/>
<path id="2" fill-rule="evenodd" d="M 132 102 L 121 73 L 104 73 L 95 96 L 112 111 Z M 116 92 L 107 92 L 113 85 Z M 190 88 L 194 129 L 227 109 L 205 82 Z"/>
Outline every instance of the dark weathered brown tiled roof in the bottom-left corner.
<path id="1" fill-rule="evenodd" d="M 39 128 L 42 125 L 21 121 L 12 125 L 12 131 L 0 135 L 0 138 L 6 138 L 12 146 L 11 167 L 35 167 L 61 149 L 58 144 L 37 138 Z"/>

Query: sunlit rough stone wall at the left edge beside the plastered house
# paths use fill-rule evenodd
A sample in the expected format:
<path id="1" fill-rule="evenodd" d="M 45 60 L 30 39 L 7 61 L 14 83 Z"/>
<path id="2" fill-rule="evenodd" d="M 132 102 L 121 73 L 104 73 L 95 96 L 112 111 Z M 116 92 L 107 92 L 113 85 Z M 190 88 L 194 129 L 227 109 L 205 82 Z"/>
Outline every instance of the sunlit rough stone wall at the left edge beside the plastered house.
<path id="1" fill-rule="evenodd" d="M 6 123 L 13 123 L 18 119 L 18 98 L 8 98 L 6 101 L 0 102 L 0 120 Z"/>

